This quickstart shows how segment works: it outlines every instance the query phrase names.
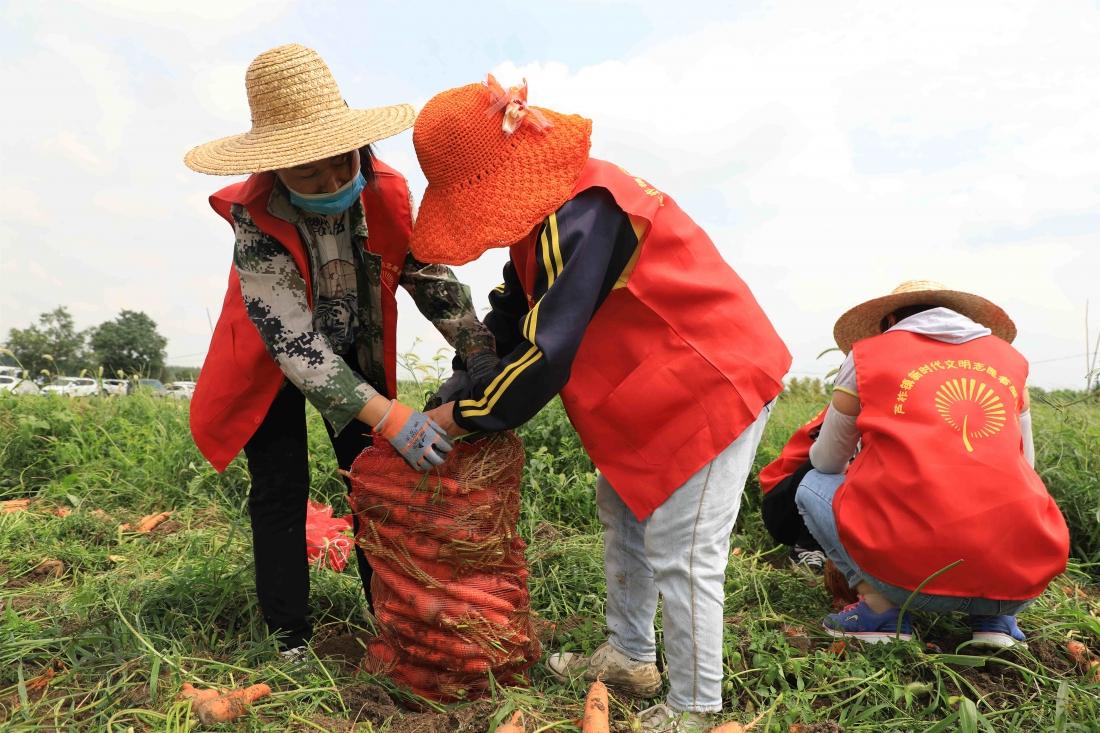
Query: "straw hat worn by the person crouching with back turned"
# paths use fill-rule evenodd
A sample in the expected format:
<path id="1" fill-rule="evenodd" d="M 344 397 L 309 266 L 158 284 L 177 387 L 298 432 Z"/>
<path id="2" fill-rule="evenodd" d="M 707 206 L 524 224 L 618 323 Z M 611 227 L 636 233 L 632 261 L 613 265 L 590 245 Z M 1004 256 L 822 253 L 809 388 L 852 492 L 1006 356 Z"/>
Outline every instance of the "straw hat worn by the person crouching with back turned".
<path id="1" fill-rule="evenodd" d="M 889 314 L 905 306 L 927 305 L 950 308 L 977 321 L 1008 342 L 1016 338 L 1016 325 L 1000 306 L 980 295 L 953 291 L 931 280 L 910 280 L 889 295 L 860 303 L 845 313 L 833 327 L 833 338 L 845 353 L 859 339 L 881 333 L 881 322 Z"/>

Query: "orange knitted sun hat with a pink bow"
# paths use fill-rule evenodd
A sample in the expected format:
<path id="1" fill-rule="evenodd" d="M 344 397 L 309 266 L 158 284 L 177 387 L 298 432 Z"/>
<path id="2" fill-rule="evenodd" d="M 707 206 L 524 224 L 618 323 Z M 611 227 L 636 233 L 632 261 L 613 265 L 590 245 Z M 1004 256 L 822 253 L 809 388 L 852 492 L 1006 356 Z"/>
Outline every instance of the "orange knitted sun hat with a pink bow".
<path id="1" fill-rule="evenodd" d="M 421 262 L 459 265 L 508 247 L 569 198 L 592 120 L 527 106 L 527 84 L 442 91 L 413 128 L 428 188 L 409 242 Z"/>

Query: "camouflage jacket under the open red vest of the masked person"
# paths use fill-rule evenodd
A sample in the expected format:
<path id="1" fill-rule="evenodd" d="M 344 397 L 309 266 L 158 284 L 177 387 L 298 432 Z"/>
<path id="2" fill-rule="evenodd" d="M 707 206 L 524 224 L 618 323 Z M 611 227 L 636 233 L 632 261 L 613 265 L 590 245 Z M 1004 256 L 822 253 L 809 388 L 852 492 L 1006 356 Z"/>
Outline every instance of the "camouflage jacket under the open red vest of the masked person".
<path id="1" fill-rule="evenodd" d="M 293 223 L 301 237 L 310 259 L 314 307 L 289 252 L 237 205 L 233 265 L 244 306 L 287 380 L 339 433 L 386 384 L 381 261 L 364 254 L 369 233 L 360 201 L 339 216 L 315 215 L 292 205 L 276 184 L 267 210 Z M 409 255 L 399 282 L 460 358 L 494 349 L 493 337 L 474 314 L 470 289 L 450 269 Z M 362 375 L 344 361 L 351 353 Z"/>

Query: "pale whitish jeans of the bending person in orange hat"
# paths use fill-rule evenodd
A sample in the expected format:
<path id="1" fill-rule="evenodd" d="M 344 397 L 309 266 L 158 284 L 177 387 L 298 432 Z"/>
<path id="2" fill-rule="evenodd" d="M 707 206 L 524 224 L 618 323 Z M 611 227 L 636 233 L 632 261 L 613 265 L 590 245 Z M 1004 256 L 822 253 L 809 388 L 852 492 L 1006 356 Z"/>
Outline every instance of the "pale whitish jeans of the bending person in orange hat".
<path id="1" fill-rule="evenodd" d="M 653 661 L 657 597 L 664 599 L 668 704 L 722 710 L 722 632 L 729 534 L 771 405 L 714 460 L 638 522 L 603 475 L 596 505 L 604 525 L 608 641 Z"/>

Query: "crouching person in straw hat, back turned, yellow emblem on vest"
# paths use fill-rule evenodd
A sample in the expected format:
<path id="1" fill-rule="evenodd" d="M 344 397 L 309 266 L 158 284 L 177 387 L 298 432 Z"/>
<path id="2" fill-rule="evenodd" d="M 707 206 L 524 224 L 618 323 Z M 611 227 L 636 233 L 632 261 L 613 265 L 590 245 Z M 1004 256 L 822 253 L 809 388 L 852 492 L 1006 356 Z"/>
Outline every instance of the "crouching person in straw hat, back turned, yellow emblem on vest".
<path id="1" fill-rule="evenodd" d="M 847 358 L 795 501 L 862 598 L 825 630 L 909 639 L 908 603 L 966 612 L 977 644 L 1023 643 L 1015 614 L 1065 570 L 1069 535 L 1033 469 L 1012 320 L 913 281 L 844 314 L 834 335 Z"/>

